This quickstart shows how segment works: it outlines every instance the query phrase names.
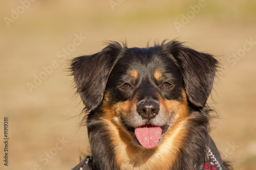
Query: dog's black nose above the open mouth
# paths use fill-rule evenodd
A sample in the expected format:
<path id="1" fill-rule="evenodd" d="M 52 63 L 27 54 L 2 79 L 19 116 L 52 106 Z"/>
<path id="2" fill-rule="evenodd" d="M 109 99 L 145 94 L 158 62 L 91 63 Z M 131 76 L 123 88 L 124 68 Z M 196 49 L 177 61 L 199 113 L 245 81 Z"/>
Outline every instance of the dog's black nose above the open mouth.
<path id="1" fill-rule="evenodd" d="M 141 102 L 137 106 L 137 112 L 144 119 L 152 119 L 159 112 L 159 105 L 156 102 Z"/>

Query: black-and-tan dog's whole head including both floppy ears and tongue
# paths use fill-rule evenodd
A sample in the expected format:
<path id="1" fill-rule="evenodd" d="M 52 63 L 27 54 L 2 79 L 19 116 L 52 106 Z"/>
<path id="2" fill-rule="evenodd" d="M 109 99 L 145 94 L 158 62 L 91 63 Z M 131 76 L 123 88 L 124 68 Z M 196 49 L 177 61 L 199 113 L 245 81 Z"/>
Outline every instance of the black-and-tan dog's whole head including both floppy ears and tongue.
<path id="1" fill-rule="evenodd" d="M 154 148 L 189 109 L 205 106 L 216 67 L 211 55 L 178 41 L 148 48 L 112 42 L 71 65 L 86 109 L 97 110 L 144 148 Z"/>

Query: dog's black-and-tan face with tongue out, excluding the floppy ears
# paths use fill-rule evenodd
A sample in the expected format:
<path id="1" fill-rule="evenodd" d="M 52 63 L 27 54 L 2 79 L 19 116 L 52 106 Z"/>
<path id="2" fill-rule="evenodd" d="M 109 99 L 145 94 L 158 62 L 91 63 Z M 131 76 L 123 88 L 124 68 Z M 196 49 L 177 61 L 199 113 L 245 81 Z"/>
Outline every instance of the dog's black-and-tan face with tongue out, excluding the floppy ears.
<path id="1" fill-rule="evenodd" d="M 157 48 L 123 52 L 110 73 L 103 98 L 103 108 L 115 112 L 108 116 L 144 148 L 155 147 L 170 125 L 184 116 L 178 110 L 187 105 L 179 68 Z"/>

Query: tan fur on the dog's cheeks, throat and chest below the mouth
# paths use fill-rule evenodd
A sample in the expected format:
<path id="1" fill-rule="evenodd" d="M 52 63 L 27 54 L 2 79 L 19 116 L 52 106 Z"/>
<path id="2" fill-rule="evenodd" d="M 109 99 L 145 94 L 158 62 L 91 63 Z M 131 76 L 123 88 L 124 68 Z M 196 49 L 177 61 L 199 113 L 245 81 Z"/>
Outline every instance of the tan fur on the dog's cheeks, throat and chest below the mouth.
<path id="1" fill-rule="evenodd" d="M 109 140 L 114 148 L 115 161 L 121 170 L 128 169 L 171 169 L 176 163 L 187 135 L 186 106 L 178 107 L 175 123 L 162 136 L 159 144 L 153 149 L 145 149 L 133 144 L 133 137 L 119 121 L 116 108 L 105 109 L 104 123 L 110 132 Z"/>

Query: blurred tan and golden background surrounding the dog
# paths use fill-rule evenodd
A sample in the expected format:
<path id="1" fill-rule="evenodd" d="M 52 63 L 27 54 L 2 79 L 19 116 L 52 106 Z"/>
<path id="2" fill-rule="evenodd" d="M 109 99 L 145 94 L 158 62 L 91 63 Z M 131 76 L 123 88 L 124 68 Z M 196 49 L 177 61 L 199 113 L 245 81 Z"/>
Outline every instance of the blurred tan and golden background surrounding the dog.
<path id="1" fill-rule="evenodd" d="M 2 1 L 0 15 L 0 169 L 71 169 L 90 152 L 70 59 L 108 40 L 145 47 L 173 38 L 221 62 L 211 135 L 234 169 L 255 169 L 255 1 L 20 0 Z"/>

